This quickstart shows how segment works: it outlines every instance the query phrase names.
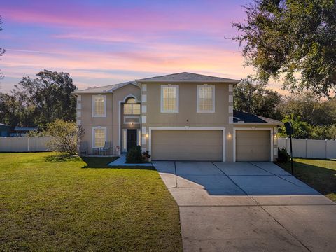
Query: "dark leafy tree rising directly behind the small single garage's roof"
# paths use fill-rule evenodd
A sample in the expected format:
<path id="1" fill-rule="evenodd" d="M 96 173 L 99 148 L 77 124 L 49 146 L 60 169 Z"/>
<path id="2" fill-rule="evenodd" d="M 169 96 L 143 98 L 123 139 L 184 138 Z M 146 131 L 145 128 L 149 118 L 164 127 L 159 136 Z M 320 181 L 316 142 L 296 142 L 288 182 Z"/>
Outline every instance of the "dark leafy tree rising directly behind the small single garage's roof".
<path id="1" fill-rule="evenodd" d="M 238 111 L 253 113 L 274 119 L 281 119 L 277 107 L 281 104 L 281 95 L 268 90 L 265 83 L 251 76 L 244 79 L 234 90 L 234 108 Z"/>

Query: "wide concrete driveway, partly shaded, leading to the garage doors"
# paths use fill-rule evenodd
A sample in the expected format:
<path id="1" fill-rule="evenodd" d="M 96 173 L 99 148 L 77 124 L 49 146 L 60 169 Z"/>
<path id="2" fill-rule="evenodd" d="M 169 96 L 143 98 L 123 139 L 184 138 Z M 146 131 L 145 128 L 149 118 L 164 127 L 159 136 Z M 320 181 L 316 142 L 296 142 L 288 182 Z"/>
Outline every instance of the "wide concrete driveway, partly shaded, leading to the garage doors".
<path id="1" fill-rule="evenodd" d="M 272 162 L 153 162 L 184 251 L 335 251 L 336 204 Z"/>

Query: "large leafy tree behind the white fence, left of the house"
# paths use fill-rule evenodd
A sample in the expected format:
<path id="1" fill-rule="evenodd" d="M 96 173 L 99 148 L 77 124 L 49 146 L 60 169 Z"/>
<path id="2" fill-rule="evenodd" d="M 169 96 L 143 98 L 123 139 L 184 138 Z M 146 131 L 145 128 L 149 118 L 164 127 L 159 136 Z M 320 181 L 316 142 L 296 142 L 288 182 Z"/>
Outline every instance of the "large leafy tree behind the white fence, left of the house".
<path id="1" fill-rule="evenodd" d="M 71 92 L 76 90 L 76 85 L 69 73 L 44 70 L 36 76 L 22 78 L 12 90 L 12 96 L 25 108 L 26 114 L 22 112 L 20 122 L 26 126 L 38 125 L 43 130 L 57 119 L 75 121 L 76 96 Z M 32 121 L 25 118 L 27 114 Z"/>

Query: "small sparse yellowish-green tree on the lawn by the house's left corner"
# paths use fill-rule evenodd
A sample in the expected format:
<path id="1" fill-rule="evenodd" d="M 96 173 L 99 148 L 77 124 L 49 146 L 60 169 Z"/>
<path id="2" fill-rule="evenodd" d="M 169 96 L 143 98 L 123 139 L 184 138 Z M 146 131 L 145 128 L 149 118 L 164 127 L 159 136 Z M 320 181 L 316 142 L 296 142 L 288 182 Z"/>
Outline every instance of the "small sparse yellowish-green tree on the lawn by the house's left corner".
<path id="1" fill-rule="evenodd" d="M 77 140 L 84 135 L 83 127 L 76 126 L 76 123 L 55 120 L 47 126 L 46 135 L 50 141 L 46 144 L 50 151 L 59 151 L 75 155 L 77 153 Z"/>

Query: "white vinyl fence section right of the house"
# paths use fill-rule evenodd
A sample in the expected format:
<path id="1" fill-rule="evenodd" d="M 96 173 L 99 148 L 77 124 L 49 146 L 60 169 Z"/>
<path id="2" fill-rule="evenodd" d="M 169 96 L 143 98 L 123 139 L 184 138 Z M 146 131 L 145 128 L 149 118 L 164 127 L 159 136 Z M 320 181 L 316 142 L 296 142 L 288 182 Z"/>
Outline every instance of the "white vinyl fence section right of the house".
<path id="1" fill-rule="evenodd" d="M 295 158 L 336 158 L 335 140 L 292 139 Z M 279 138 L 278 147 L 290 153 L 289 138 Z"/>

